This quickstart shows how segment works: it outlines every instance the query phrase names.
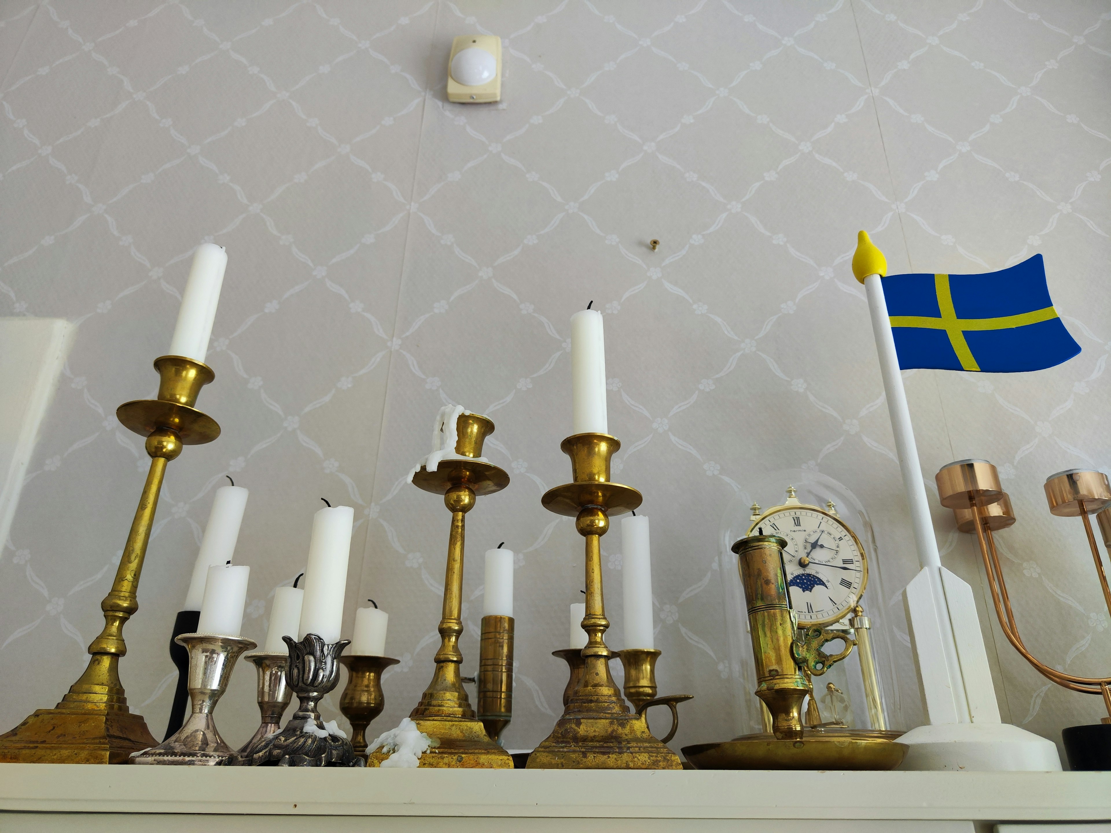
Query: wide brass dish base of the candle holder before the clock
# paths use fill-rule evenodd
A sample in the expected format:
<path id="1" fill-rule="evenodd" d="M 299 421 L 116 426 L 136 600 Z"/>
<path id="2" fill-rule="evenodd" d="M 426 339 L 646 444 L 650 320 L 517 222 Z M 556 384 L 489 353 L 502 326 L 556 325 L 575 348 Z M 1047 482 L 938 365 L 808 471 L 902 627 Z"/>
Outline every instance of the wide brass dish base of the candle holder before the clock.
<path id="1" fill-rule="evenodd" d="M 808 730 L 800 741 L 749 734 L 723 743 L 683 746 L 695 770 L 893 770 L 910 746 L 902 732 L 853 729 Z"/>

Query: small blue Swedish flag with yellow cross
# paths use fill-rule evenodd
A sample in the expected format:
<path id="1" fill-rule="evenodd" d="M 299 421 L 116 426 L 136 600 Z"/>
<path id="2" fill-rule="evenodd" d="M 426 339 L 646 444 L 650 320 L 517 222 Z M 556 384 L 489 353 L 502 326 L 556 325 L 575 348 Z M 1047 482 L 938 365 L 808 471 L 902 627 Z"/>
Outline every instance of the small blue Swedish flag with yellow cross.
<path id="1" fill-rule="evenodd" d="M 1017 373 L 1080 352 L 1053 309 L 1040 254 L 985 274 L 893 274 L 883 294 L 902 370 Z"/>

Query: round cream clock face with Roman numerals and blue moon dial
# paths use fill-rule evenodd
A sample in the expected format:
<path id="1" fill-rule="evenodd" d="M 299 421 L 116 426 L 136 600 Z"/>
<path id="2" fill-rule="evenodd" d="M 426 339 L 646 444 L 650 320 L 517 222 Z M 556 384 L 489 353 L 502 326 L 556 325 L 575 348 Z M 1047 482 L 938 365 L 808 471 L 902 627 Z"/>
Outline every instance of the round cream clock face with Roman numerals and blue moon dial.
<path id="1" fill-rule="evenodd" d="M 837 622 L 852 610 L 864 592 L 868 566 L 848 526 L 808 506 L 788 506 L 759 525 L 787 540 L 783 566 L 800 625 Z"/>

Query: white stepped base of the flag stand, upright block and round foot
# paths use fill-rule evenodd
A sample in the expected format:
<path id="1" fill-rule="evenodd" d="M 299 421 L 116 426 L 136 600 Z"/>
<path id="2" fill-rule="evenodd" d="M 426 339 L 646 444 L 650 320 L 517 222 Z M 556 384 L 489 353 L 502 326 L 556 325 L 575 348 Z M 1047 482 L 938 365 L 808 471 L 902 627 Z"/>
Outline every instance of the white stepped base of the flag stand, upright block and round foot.
<path id="1" fill-rule="evenodd" d="M 972 588 L 945 568 L 923 568 L 903 591 L 911 644 L 931 725 L 899 739 L 900 770 L 1060 772 L 1052 741 L 1000 722 Z M 944 631 L 952 633 L 952 655 Z"/>

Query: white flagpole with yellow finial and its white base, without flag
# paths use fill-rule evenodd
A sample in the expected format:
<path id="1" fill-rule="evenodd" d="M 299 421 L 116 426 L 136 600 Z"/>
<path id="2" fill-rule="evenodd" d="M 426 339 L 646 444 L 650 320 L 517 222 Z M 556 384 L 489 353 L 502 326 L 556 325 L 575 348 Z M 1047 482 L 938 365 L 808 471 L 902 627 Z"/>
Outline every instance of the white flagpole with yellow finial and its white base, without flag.
<path id="1" fill-rule="evenodd" d="M 911 745 L 903 769 L 1059 770 L 1061 763 L 1052 742 L 1000 723 L 972 589 L 941 565 L 883 295 L 887 268 L 883 253 L 861 231 L 852 271 L 868 295 L 895 452 L 922 566 L 907 586 L 904 599 L 930 725 L 900 739 Z"/>

